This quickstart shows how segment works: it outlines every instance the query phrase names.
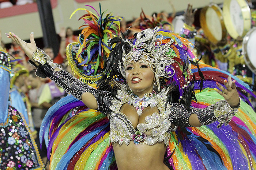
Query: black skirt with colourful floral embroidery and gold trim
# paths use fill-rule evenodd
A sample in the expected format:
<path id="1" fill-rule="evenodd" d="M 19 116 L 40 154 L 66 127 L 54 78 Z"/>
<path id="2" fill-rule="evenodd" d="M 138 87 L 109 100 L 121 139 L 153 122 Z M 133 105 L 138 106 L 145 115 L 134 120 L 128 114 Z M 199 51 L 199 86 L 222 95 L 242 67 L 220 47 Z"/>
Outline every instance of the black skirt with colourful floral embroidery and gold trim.
<path id="1" fill-rule="evenodd" d="M 8 111 L 7 121 L 0 124 L 0 169 L 44 169 L 23 115 L 11 106 Z"/>

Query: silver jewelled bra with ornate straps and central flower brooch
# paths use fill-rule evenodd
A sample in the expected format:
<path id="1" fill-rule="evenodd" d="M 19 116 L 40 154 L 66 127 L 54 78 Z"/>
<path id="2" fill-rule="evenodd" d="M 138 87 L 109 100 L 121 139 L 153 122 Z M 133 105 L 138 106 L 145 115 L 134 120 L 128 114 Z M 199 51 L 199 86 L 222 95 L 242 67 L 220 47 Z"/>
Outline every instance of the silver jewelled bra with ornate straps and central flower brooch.
<path id="1" fill-rule="evenodd" d="M 131 98 L 130 93 L 125 86 L 122 86 L 121 90 L 117 91 L 117 99 L 112 100 L 112 110 L 110 114 L 110 142 L 118 142 L 120 145 L 125 143 L 128 145 L 131 140 L 137 144 L 154 145 L 157 142 L 164 141 L 165 145 L 168 145 L 170 139 L 171 122 L 168 119 L 170 111 L 167 112 L 165 103 L 167 100 L 167 88 L 164 88 L 159 94 L 156 95 L 157 112 L 152 115 L 146 116 L 145 123 L 139 123 L 136 129 L 133 127 L 131 120 L 120 112 L 120 108 L 124 103 L 128 103 Z M 151 130 L 151 131 L 150 131 Z M 150 131 L 150 136 L 146 135 L 146 132 Z"/>

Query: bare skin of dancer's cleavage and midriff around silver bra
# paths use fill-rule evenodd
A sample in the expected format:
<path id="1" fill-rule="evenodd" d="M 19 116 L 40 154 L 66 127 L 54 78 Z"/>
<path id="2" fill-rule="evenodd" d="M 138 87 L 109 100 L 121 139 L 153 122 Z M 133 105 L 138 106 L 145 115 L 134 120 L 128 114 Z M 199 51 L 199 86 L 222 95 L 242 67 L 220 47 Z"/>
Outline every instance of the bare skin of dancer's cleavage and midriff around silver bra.
<path id="1" fill-rule="evenodd" d="M 157 107 L 147 107 L 138 116 L 136 108 L 129 104 L 124 104 L 120 112 L 129 117 L 135 129 L 137 124 L 145 122 L 146 116 L 152 115 L 154 112 L 159 113 Z M 146 133 L 146 135 L 150 135 L 150 132 Z M 130 141 L 128 146 L 113 143 L 113 149 L 118 170 L 169 170 L 163 163 L 166 151 L 164 142 L 157 142 L 154 145 L 135 145 L 133 141 Z"/>

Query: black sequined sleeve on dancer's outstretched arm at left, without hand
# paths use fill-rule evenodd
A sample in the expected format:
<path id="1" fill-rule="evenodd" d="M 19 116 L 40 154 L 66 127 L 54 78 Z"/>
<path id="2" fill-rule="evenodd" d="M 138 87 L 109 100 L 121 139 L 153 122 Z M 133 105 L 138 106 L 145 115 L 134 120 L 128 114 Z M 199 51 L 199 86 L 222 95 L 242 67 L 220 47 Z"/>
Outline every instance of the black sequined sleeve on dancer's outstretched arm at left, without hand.
<path id="1" fill-rule="evenodd" d="M 35 58 L 33 59 L 35 60 Z M 76 79 L 69 72 L 62 70 L 60 66 L 57 66 L 56 63 L 53 63 L 52 60 L 50 60 L 49 58 L 46 59 L 45 62 L 39 62 L 41 63 L 39 64 L 39 66 L 33 63 L 31 60 L 29 62 L 33 64 L 35 67 L 37 67 L 37 71 L 36 71 L 37 76 L 41 78 L 49 77 L 58 86 L 62 87 L 66 92 L 72 94 L 75 98 L 79 100 L 82 100 L 82 95 L 85 92 L 90 92 L 91 94 L 94 95 L 95 99 L 97 100 L 97 103 L 98 103 L 97 110 L 102 112 L 105 115 L 110 113 L 109 107 L 112 105 L 111 101 L 113 99 L 110 92 L 99 91 L 87 85 L 86 83 Z M 54 71 L 56 67 L 60 68 L 60 71 Z"/>

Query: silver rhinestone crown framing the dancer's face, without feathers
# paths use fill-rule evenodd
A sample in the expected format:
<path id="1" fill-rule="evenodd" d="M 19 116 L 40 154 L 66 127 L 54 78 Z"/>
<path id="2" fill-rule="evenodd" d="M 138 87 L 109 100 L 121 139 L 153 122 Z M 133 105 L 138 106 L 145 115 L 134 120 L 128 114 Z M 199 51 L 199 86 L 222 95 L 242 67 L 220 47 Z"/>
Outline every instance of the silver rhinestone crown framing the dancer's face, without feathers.
<path id="1" fill-rule="evenodd" d="M 127 65 L 132 61 L 138 62 L 142 60 L 155 73 L 158 91 L 160 91 L 159 77 L 172 77 L 175 71 L 171 64 L 176 61 L 165 55 L 166 52 L 169 52 L 174 40 L 169 39 L 168 42 L 162 42 L 163 35 L 158 33 L 158 30 L 159 28 L 155 27 L 154 29 L 148 28 L 139 32 L 134 45 L 128 39 L 123 39 L 124 42 L 129 43 L 130 51 L 126 54 L 123 46 L 123 67 L 121 67 L 121 63 L 119 63 L 119 67 L 121 74 L 125 77 Z"/>

